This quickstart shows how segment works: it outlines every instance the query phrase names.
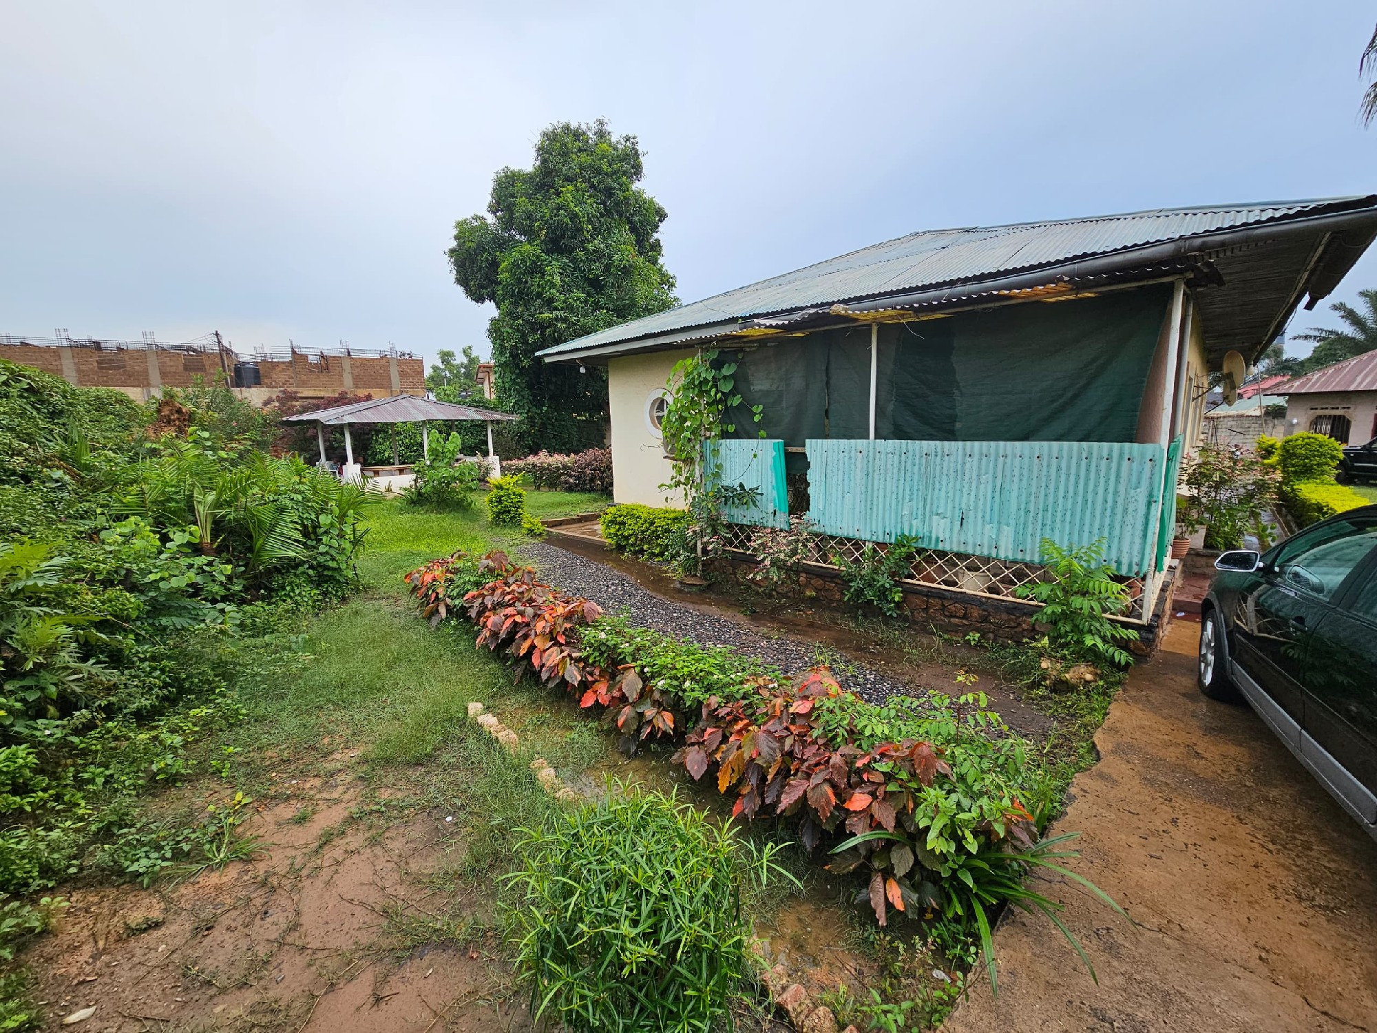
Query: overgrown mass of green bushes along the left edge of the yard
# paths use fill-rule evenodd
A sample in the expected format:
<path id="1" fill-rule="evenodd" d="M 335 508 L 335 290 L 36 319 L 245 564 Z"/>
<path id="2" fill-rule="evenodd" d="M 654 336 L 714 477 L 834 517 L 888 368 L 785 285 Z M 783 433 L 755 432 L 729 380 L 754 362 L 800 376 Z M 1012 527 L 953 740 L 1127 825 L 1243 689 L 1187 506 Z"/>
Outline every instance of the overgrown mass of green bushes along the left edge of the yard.
<path id="1" fill-rule="evenodd" d="M 77 873 L 196 771 L 275 596 L 353 588 L 364 493 L 262 435 L 222 391 L 139 406 L 0 361 L 0 893 Z"/>

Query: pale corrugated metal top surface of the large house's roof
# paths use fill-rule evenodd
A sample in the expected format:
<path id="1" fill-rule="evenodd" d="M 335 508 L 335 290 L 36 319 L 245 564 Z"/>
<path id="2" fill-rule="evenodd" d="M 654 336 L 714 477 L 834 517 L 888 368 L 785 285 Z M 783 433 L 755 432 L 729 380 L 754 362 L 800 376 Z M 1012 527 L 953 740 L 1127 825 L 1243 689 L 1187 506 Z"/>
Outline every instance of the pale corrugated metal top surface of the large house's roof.
<path id="1" fill-rule="evenodd" d="M 829 306 L 946 285 L 975 285 L 1056 269 L 1092 256 L 1132 252 L 1187 237 L 1362 207 L 1371 197 L 1159 208 L 1085 219 L 928 230 L 852 251 L 749 286 L 611 326 L 540 353 L 576 354 L 620 342 L 724 321 Z"/>

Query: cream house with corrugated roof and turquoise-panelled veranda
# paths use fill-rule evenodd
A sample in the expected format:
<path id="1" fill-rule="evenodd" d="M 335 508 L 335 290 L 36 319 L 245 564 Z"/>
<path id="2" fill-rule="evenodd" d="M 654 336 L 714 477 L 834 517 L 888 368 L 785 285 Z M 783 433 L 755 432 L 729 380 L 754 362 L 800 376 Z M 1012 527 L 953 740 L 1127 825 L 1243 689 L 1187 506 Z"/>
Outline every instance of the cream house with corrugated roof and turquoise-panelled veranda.
<path id="1" fill-rule="evenodd" d="M 1209 373 L 1374 236 L 1377 196 L 931 230 L 540 354 L 607 366 L 617 501 L 666 501 L 669 375 L 712 350 L 763 412 L 709 448 L 760 500 L 731 519 L 806 515 L 843 552 L 914 536 L 914 584 L 987 596 L 1036 576 L 1042 539 L 1103 540 L 1147 618 Z"/>

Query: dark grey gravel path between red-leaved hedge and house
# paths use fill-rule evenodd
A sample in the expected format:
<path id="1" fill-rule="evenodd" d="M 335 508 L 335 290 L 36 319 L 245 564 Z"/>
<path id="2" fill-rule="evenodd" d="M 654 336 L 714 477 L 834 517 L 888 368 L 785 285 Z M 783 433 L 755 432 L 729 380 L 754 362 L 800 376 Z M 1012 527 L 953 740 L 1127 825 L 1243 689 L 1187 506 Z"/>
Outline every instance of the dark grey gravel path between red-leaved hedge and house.
<path id="1" fill-rule="evenodd" d="M 566 552 L 558 545 L 530 541 L 522 551 L 549 584 L 592 599 L 609 613 L 629 610 L 632 623 L 643 628 L 693 639 L 701 646 L 728 646 L 760 657 L 790 675 L 818 662 L 818 653 L 806 642 L 763 635 L 734 620 L 664 599 L 610 566 Z M 850 660 L 834 665 L 832 674 L 844 687 L 870 702 L 909 694 L 902 683 Z"/>

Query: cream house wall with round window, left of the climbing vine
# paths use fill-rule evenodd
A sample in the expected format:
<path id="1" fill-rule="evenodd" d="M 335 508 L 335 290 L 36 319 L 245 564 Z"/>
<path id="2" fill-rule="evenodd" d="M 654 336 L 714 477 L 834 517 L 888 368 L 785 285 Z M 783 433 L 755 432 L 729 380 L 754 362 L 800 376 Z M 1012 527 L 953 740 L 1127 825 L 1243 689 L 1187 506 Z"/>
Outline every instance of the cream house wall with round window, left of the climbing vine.
<path id="1" fill-rule="evenodd" d="M 673 464 L 651 430 L 647 408 L 654 393 L 664 390 L 675 362 L 691 354 L 691 350 L 654 351 L 607 362 L 613 499 L 618 503 L 684 504 L 680 494 L 660 489 L 669 481 Z"/>

